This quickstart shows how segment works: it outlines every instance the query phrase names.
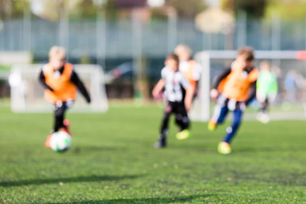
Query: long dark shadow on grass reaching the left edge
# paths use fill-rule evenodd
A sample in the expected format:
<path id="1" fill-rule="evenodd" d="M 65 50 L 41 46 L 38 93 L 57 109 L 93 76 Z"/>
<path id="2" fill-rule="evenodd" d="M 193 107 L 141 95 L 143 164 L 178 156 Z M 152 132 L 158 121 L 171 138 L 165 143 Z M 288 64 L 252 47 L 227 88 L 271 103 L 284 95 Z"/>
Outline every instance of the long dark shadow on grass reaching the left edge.
<path id="1" fill-rule="evenodd" d="M 91 175 L 91 176 L 79 176 L 79 177 L 63 177 L 56 179 L 33 179 L 33 180 L 19 180 L 19 181 L 6 181 L 0 182 L 0 186 L 28 186 L 28 185 L 41 185 L 41 184 L 54 184 L 54 183 L 77 183 L 77 182 L 100 182 L 100 181 L 117 181 L 123 179 L 135 179 L 138 175 Z"/>

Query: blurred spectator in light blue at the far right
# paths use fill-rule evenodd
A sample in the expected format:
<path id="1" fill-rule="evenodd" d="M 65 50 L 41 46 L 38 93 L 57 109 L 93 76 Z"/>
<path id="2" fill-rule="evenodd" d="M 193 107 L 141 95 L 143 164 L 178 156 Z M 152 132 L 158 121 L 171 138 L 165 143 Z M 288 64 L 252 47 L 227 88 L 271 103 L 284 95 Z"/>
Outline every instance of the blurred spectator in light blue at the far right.
<path id="1" fill-rule="evenodd" d="M 294 103 L 297 96 L 297 87 L 296 87 L 297 74 L 294 69 L 290 69 L 285 78 L 285 90 L 287 92 L 287 101 Z"/>

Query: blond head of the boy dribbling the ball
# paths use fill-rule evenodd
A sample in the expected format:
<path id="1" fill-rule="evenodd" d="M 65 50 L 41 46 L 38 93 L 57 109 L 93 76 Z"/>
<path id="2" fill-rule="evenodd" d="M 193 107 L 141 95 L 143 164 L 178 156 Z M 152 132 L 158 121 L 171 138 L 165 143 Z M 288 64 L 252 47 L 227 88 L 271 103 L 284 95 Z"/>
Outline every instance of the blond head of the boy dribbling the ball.
<path id="1" fill-rule="evenodd" d="M 53 46 L 49 52 L 49 62 L 54 69 L 59 70 L 66 63 L 66 50 L 63 47 Z"/>

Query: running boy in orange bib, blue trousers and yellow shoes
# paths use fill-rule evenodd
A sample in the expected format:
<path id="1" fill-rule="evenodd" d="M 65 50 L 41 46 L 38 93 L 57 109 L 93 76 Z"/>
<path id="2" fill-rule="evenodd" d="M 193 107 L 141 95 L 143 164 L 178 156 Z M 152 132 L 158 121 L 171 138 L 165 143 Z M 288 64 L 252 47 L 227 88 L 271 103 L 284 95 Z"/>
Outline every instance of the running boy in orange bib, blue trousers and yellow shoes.
<path id="1" fill-rule="evenodd" d="M 232 111 L 234 116 L 232 125 L 227 127 L 226 134 L 218 145 L 220 154 L 231 153 L 230 142 L 239 129 L 245 107 L 256 97 L 259 70 L 253 66 L 253 61 L 253 49 L 241 47 L 237 59 L 219 75 L 210 92 L 211 98 L 217 99 L 217 104 L 209 121 L 209 130 L 215 130 L 229 111 Z"/>

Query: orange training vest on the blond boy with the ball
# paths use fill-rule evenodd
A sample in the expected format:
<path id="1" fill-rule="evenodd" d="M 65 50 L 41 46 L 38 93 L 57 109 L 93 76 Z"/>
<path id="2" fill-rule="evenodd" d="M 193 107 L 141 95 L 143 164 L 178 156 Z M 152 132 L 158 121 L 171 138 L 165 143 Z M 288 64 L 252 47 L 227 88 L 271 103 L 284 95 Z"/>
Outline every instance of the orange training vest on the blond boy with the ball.
<path id="1" fill-rule="evenodd" d="M 54 76 L 54 68 L 50 63 L 44 67 L 44 76 L 46 84 L 54 89 L 54 92 L 45 90 L 45 99 L 50 103 L 57 103 L 57 101 L 73 100 L 77 97 L 77 87 L 70 82 L 73 65 L 66 63 L 63 73 L 56 78 Z"/>

